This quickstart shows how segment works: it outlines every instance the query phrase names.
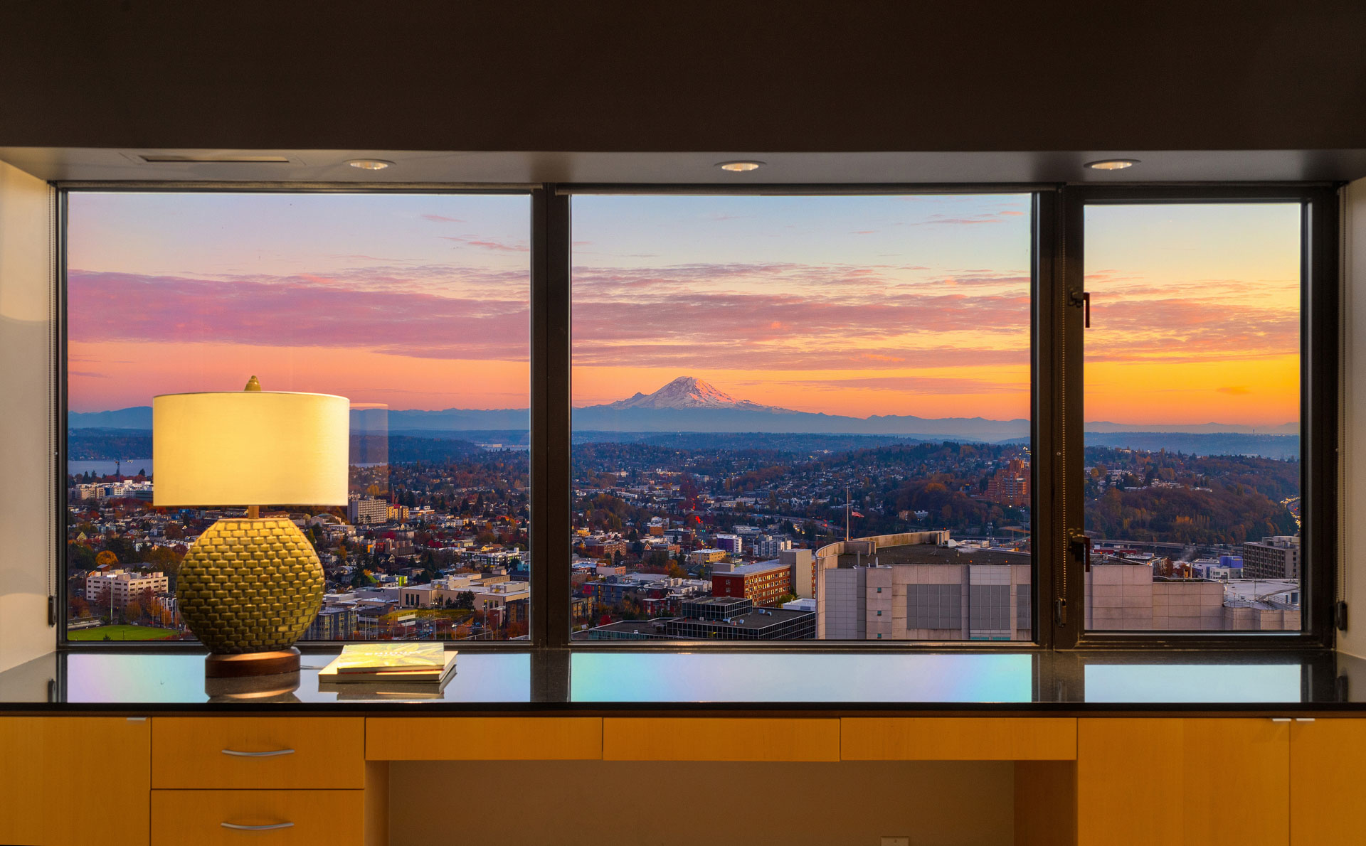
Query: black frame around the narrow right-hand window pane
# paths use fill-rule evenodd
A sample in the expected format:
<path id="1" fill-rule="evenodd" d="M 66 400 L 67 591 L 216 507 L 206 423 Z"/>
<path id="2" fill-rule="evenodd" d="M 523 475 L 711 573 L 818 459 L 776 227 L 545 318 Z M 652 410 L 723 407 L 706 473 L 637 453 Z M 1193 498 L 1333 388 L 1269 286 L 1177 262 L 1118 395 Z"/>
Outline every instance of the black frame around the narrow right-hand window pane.
<path id="1" fill-rule="evenodd" d="M 1330 648 L 1336 637 L 1340 550 L 1337 538 L 1339 446 L 1339 186 L 1328 183 L 1264 184 L 1106 184 L 1067 186 L 1061 191 L 1065 233 L 1059 243 L 1061 321 L 1057 366 L 1064 379 L 1057 409 L 1060 505 L 1053 510 L 1070 574 L 1057 599 L 1065 619 L 1055 615 L 1055 643 L 1061 650 L 1303 650 Z M 1081 468 L 1085 438 L 1085 214 L 1091 205 L 1287 203 L 1300 205 L 1300 613 L 1299 632 L 1113 632 L 1086 630 L 1085 550 L 1071 543 L 1085 536 Z M 1067 486 L 1070 475 L 1078 483 Z M 1071 494 L 1071 495 L 1068 495 Z"/>

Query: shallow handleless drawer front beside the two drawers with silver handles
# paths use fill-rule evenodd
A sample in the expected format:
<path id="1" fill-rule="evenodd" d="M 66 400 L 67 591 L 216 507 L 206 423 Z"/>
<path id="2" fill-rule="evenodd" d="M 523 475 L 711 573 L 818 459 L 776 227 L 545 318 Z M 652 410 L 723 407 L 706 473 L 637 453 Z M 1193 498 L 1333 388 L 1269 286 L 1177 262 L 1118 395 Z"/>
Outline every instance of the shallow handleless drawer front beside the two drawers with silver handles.
<path id="1" fill-rule="evenodd" d="M 602 757 L 600 716 L 376 716 L 372 761 L 555 761 Z"/>

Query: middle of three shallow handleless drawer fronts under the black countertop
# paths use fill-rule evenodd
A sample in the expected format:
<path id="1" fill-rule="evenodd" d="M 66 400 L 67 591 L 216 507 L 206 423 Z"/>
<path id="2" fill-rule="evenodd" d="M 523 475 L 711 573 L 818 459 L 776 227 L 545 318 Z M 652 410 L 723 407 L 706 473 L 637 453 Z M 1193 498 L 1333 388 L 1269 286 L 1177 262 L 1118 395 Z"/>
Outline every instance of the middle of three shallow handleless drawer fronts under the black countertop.
<path id="1" fill-rule="evenodd" d="M 837 761 L 839 719 L 602 719 L 608 761 Z"/>

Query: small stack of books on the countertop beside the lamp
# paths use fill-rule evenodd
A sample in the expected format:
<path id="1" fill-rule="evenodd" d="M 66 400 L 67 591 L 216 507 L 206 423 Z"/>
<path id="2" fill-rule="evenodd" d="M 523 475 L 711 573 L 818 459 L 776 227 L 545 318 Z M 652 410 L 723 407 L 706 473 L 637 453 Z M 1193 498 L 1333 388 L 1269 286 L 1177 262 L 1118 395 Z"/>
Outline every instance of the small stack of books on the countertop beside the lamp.
<path id="1" fill-rule="evenodd" d="M 440 699 L 455 656 L 440 643 L 348 644 L 318 671 L 318 689 L 348 700 Z"/>

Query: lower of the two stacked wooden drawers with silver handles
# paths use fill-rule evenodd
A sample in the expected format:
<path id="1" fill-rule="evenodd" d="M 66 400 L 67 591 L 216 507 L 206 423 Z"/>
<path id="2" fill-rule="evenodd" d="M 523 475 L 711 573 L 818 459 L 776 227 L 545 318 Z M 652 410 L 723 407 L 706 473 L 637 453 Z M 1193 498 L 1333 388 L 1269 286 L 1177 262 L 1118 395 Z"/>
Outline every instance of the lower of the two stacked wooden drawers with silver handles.
<path id="1" fill-rule="evenodd" d="M 363 846 L 363 790 L 153 790 L 152 846 Z"/>

